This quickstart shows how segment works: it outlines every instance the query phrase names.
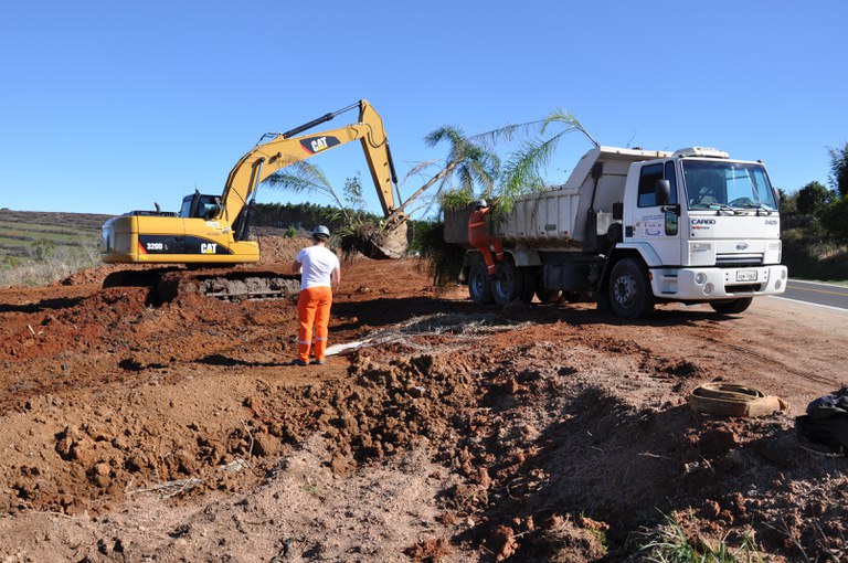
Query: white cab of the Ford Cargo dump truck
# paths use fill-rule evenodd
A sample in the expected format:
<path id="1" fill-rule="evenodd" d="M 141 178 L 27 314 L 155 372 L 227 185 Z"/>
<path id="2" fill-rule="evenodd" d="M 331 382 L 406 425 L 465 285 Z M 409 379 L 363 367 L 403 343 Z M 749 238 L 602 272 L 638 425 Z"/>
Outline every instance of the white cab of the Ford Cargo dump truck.
<path id="1" fill-rule="evenodd" d="M 753 297 L 785 289 L 777 198 L 762 162 L 681 149 L 633 162 L 623 199 L 623 236 L 608 282 L 617 314 L 642 316 L 651 296 L 741 312 Z M 650 284 L 644 299 L 639 276 Z"/>

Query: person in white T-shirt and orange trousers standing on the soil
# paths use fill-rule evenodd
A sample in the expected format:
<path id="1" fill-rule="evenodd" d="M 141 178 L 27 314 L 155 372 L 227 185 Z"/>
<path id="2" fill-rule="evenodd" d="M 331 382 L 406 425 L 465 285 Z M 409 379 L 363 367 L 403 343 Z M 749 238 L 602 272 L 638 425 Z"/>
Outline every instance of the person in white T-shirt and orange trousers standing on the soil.
<path id="1" fill-rule="evenodd" d="M 312 231 L 312 245 L 297 253 L 292 270 L 300 273 L 300 294 L 297 298 L 297 359 L 294 365 L 309 363 L 315 325 L 315 360 L 322 364 L 329 333 L 332 288 L 341 282 L 339 258 L 328 247 L 330 230 L 318 225 Z"/>

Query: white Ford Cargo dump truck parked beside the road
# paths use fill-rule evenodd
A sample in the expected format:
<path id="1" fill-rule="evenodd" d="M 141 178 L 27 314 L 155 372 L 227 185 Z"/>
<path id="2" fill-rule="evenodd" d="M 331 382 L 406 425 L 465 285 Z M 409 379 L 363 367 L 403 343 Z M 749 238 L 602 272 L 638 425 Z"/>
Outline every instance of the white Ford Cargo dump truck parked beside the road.
<path id="1" fill-rule="evenodd" d="M 477 304 L 596 300 L 638 319 L 670 301 L 738 314 L 786 287 L 765 167 L 716 149 L 590 150 L 564 185 L 495 221 L 505 247 L 495 275 L 469 244 L 471 211 L 445 212 L 445 241 L 468 248 L 463 277 Z"/>

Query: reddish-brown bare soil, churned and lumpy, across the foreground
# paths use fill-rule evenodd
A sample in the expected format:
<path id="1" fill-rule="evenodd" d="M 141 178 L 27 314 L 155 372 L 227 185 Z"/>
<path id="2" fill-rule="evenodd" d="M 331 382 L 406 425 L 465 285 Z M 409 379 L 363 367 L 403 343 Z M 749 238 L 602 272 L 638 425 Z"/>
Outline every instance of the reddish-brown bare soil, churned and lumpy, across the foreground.
<path id="1" fill-rule="evenodd" d="M 264 267 L 305 241 L 266 236 Z M 794 417 L 848 381 L 848 315 L 763 298 L 474 308 L 414 259 L 343 263 L 325 365 L 289 300 L 0 290 L 2 561 L 623 561 L 675 517 L 766 561 L 846 557 L 846 458 Z M 696 415 L 700 383 L 789 408 Z"/>

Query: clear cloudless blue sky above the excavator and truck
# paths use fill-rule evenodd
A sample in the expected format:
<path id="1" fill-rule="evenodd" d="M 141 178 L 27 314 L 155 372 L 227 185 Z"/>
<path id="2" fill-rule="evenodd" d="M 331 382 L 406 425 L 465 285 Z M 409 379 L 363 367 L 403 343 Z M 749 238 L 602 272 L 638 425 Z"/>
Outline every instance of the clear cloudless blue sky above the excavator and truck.
<path id="1" fill-rule="evenodd" d="M 401 177 L 424 136 L 573 113 L 603 145 L 718 147 L 775 185 L 827 184 L 848 142 L 848 2 L 7 2 L 0 208 L 176 211 L 261 135 L 360 98 Z M 318 130 L 354 119 L 346 114 Z M 569 136 L 548 171 L 591 148 Z M 357 144 L 316 157 L 341 190 Z M 435 173 L 435 169 L 432 173 Z M 425 179 L 412 178 L 404 196 Z M 367 183 L 371 211 L 379 211 Z M 259 201 L 318 201 L 262 189 Z"/>

